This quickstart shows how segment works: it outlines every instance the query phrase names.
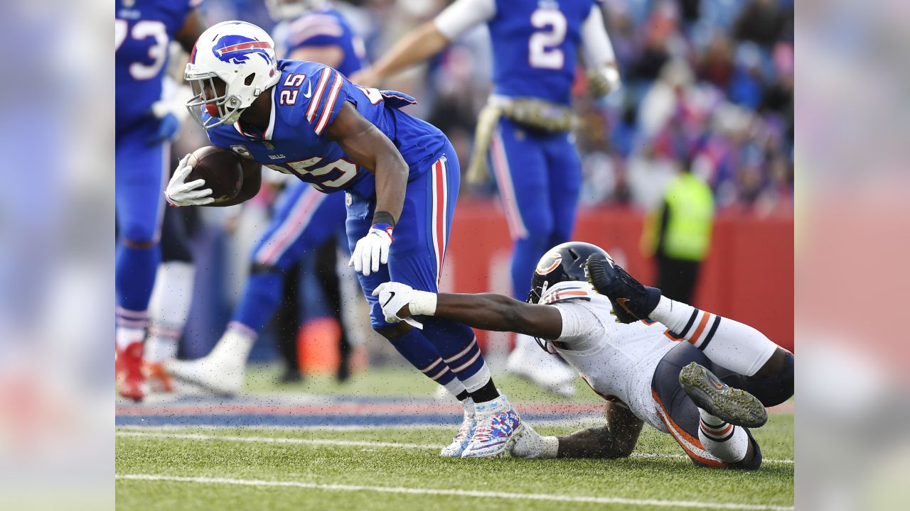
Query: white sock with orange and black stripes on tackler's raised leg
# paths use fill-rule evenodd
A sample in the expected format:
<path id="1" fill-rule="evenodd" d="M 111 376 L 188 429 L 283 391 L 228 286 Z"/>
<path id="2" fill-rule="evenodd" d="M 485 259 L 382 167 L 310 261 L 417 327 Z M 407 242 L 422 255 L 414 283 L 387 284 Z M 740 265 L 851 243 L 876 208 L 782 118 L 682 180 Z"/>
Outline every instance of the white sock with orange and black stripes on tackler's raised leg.
<path id="1" fill-rule="evenodd" d="M 753 376 L 777 349 L 752 326 L 666 296 L 661 296 L 651 318 L 667 326 L 672 336 L 702 350 L 713 363 L 744 376 Z"/>

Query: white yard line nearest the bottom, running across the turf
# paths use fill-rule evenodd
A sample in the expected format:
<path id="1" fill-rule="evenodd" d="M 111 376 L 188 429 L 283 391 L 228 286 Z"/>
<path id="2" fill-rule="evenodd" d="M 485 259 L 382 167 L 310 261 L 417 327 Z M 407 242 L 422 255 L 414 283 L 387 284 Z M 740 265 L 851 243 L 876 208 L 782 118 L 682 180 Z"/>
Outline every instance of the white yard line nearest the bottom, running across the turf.
<path id="1" fill-rule="evenodd" d="M 447 490 L 434 488 L 409 488 L 395 486 L 320 485 L 298 481 L 263 481 L 259 479 L 230 479 L 227 477 L 182 477 L 159 476 L 156 474 L 117 474 L 117 479 L 133 481 L 172 481 L 198 483 L 203 485 L 235 486 L 278 486 L 340 492 L 378 492 L 407 495 L 473 496 L 479 498 L 504 498 L 514 500 L 549 500 L 556 502 L 581 502 L 591 504 L 620 504 L 623 506 L 652 507 L 695 507 L 698 509 L 747 509 L 755 511 L 790 511 L 793 506 L 764 506 L 757 504 L 733 504 L 723 502 L 699 502 L 693 500 L 657 500 L 622 498 L 615 496 L 567 496 L 551 494 L 521 494 L 504 492 L 479 492 L 470 490 Z"/>

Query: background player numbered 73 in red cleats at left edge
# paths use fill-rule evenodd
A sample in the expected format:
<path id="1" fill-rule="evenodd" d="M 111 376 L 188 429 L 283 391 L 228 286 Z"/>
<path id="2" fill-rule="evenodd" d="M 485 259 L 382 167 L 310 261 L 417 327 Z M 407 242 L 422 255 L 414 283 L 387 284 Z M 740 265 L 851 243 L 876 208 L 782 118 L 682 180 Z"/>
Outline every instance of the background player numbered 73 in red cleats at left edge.
<path id="1" fill-rule="evenodd" d="M 189 51 L 202 32 L 200 2 L 116 3 L 116 376 L 120 395 L 136 401 L 144 396 L 143 339 L 160 260 L 165 141 L 176 129 L 173 115 L 159 118 L 152 105 L 161 99 L 170 41 Z"/>

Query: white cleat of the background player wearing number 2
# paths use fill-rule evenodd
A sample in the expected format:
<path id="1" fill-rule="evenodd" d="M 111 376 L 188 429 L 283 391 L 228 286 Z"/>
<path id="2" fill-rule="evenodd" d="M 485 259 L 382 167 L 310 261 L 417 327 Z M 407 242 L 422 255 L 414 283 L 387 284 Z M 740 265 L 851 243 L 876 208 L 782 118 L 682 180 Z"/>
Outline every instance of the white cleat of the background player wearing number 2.
<path id="1" fill-rule="evenodd" d="M 578 374 L 568 364 L 537 346 L 530 336 L 515 336 L 515 349 L 506 361 L 508 370 L 547 392 L 564 397 L 575 396 Z"/>

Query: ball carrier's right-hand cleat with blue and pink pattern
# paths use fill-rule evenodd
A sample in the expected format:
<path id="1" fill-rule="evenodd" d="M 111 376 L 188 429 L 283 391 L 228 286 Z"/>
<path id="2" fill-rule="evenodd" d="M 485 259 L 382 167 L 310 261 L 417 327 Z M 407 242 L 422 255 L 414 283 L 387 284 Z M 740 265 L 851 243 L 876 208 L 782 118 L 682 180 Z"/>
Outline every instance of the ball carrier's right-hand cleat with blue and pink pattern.
<path id="1" fill-rule="evenodd" d="M 524 425 L 506 396 L 474 405 L 477 426 L 461 457 L 504 456 L 511 450 Z"/>

